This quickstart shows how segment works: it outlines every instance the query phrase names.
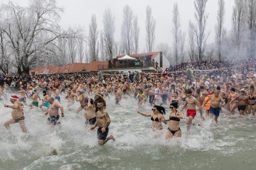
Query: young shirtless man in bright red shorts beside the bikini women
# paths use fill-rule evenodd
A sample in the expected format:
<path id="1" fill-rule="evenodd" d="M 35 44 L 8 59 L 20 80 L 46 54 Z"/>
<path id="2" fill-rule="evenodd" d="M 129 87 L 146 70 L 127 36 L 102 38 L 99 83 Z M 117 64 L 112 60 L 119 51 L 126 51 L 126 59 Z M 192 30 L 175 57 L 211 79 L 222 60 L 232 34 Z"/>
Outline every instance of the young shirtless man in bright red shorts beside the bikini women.
<path id="1" fill-rule="evenodd" d="M 200 111 L 200 115 L 201 115 L 201 119 L 204 120 L 204 116 L 203 116 L 203 112 L 202 112 L 202 107 L 200 106 L 200 103 L 198 100 L 196 100 L 195 97 L 191 96 L 192 91 L 190 89 L 185 91 L 186 94 L 186 101 L 185 104 L 182 106 L 181 111 L 187 107 L 188 105 L 188 110 L 187 110 L 187 130 L 190 129 L 191 125 L 196 125 L 197 123 L 192 123 L 192 119 L 195 118 L 196 116 L 196 106 L 199 107 L 199 111 Z M 180 112 L 181 112 L 180 111 Z"/>

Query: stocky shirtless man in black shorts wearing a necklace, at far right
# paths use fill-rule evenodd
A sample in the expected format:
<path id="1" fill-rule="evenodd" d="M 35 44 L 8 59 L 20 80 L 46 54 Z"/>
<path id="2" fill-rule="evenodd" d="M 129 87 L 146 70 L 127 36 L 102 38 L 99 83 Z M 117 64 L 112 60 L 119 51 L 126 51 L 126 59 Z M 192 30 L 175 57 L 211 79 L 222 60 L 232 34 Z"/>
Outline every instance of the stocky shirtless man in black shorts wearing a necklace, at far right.
<path id="1" fill-rule="evenodd" d="M 246 104 L 249 104 L 252 107 L 252 104 L 250 104 L 249 96 L 245 95 L 245 90 L 241 89 L 240 90 L 241 94 L 236 95 L 235 97 L 232 98 L 232 100 L 229 103 L 232 103 L 236 100 L 237 102 L 237 108 L 239 111 L 239 117 L 244 116 L 244 110 L 246 108 Z"/>

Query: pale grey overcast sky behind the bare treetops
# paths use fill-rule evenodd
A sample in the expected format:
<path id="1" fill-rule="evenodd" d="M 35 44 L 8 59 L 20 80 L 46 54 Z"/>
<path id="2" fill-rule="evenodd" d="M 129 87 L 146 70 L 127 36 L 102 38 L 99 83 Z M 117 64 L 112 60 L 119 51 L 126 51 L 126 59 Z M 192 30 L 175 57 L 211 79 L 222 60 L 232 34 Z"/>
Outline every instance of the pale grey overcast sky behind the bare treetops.
<path id="1" fill-rule="evenodd" d="M 4 3 L 8 2 L 3 0 Z M 28 0 L 13 0 L 13 2 L 25 6 Z M 178 3 L 181 19 L 181 29 L 188 35 L 188 21 L 194 21 L 194 4 L 193 0 L 57 0 L 59 6 L 64 7 L 65 13 L 61 17 L 61 26 L 84 26 L 86 33 L 88 33 L 89 23 L 91 21 L 92 13 L 96 14 L 98 29 L 102 29 L 102 16 L 104 9 L 110 7 L 116 18 L 116 32 L 115 41 L 120 41 L 121 23 L 123 19 L 123 7 L 128 4 L 133 13 L 138 15 L 140 37 L 139 47 L 140 52 L 145 49 L 145 19 L 146 6 L 152 7 L 152 13 L 156 19 L 156 45 L 164 42 L 172 43 L 172 9 L 174 2 Z M 231 14 L 234 0 L 225 0 L 225 24 L 224 26 L 231 29 Z M 207 43 L 214 42 L 214 25 L 216 24 L 218 4 L 217 0 L 208 0 L 206 4 L 206 11 L 209 13 L 207 19 L 206 31 L 211 32 Z M 187 37 L 186 37 L 187 39 Z M 155 50 L 156 49 L 155 45 Z"/>

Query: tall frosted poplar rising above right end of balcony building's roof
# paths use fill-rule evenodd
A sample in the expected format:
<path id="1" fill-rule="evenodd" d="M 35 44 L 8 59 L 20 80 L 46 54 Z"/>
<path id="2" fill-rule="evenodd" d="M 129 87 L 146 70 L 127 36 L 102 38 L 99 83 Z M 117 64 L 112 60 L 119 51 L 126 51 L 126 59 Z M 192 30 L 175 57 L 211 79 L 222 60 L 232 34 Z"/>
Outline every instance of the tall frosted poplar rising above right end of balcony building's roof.
<path id="1" fill-rule="evenodd" d="M 155 45 L 156 38 L 156 20 L 152 15 L 152 8 L 148 5 L 146 8 L 146 48 L 147 52 L 151 53 Z"/>

